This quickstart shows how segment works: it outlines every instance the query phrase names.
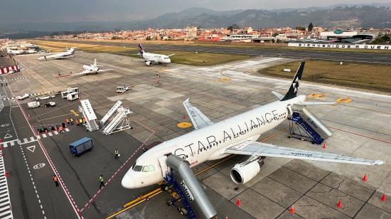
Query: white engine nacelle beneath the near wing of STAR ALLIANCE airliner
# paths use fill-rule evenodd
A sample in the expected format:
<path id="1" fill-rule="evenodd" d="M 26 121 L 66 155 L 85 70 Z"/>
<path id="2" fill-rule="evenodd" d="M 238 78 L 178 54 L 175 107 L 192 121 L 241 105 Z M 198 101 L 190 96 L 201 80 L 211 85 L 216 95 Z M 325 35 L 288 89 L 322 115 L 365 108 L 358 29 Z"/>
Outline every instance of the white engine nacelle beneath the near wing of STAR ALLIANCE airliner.
<path id="1" fill-rule="evenodd" d="M 261 171 L 261 166 L 259 166 L 258 161 L 252 161 L 249 164 L 236 164 L 231 169 L 231 178 L 234 183 L 244 184 L 250 181 L 252 178 L 257 176 L 259 171 Z M 245 165 L 243 165 L 245 164 Z"/>

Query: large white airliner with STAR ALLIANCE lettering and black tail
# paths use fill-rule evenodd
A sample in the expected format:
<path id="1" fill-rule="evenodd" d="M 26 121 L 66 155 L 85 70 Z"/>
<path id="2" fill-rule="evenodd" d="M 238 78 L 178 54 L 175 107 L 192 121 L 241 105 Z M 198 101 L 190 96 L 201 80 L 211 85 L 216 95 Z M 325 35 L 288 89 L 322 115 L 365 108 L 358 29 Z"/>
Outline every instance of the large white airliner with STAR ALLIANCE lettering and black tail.
<path id="1" fill-rule="evenodd" d="M 357 159 L 339 154 L 294 149 L 256 141 L 261 134 L 274 129 L 291 117 L 292 105 L 331 104 L 304 102 L 306 96 L 296 96 L 304 70 L 304 62 L 294 76 L 285 96 L 274 92 L 279 101 L 238 114 L 230 119 L 213 123 L 188 100 L 183 102 L 195 130 L 169 141 L 164 141 L 139 156 L 136 164 L 122 178 L 124 188 L 141 188 L 164 180 L 167 171 L 166 156 L 175 154 L 188 161 L 191 167 L 205 161 L 222 159 L 230 154 L 248 155 L 247 161 L 231 170 L 235 183 L 246 183 L 260 171 L 259 162 L 266 156 L 289 159 L 308 159 L 349 164 L 380 165 L 380 160 Z"/>

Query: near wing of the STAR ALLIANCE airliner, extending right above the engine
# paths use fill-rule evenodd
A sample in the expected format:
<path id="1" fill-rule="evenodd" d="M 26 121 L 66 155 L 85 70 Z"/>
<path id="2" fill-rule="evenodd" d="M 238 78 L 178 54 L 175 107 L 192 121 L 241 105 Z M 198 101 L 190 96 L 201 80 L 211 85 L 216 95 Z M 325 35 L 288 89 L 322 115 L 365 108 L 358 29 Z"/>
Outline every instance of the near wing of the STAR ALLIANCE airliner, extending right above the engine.
<path id="1" fill-rule="evenodd" d="M 363 165 L 381 165 L 384 164 L 380 160 L 360 159 L 341 154 L 331 154 L 319 151 L 307 151 L 301 149 L 293 149 L 284 146 L 275 146 L 258 141 L 245 141 L 242 144 L 237 144 L 225 150 L 228 154 L 245 154 L 255 156 L 274 156 L 291 159 L 313 160 L 313 161 L 328 161 L 346 164 L 363 164 Z"/>

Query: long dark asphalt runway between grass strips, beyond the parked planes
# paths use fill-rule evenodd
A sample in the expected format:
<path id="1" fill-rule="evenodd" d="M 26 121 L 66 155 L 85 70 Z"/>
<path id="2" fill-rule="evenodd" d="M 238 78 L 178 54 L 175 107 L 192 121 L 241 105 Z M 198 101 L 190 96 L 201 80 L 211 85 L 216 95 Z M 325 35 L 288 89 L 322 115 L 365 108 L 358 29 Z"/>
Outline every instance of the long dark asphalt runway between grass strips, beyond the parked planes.
<path id="1" fill-rule="evenodd" d="M 65 42 L 75 42 L 64 40 Z M 80 42 L 80 41 L 78 41 Z M 95 42 L 83 41 L 83 43 L 97 44 L 105 46 L 137 46 L 137 43 L 114 43 L 114 42 Z M 229 53 L 243 55 L 265 55 L 269 57 L 298 58 L 306 60 L 335 60 L 351 61 L 358 63 L 382 63 L 391 64 L 391 54 L 384 53 L 351 53 L 351 52 L 332 52 L 332 51 L 311 51 L 311 50 L 284 50 L 284 49 L 262 49 L 235 47 L 235 46 L 189 46 L 189 45 L 169 45 L 169 44 L 147 44 L 146 50 L 186 50 L 194 52 L 210 53 Z"/>

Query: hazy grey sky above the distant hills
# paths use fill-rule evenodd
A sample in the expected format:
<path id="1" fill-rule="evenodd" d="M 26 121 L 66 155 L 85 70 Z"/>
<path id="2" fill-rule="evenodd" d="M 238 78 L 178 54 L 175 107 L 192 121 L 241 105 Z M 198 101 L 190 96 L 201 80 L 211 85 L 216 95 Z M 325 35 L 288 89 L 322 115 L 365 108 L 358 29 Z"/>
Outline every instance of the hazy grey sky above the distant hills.
<path id="1" fill-rule="evenodd" d="M 391 3 L 391 0 L 376 0 Z M 191 7 L 216 11 L 285 9 L 333 4 L 363 4 L 366 0 L 0 0 L 0 23 L 129 21 L 154 18 Z"/>

